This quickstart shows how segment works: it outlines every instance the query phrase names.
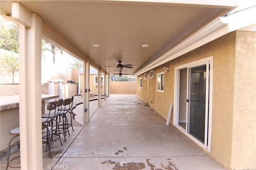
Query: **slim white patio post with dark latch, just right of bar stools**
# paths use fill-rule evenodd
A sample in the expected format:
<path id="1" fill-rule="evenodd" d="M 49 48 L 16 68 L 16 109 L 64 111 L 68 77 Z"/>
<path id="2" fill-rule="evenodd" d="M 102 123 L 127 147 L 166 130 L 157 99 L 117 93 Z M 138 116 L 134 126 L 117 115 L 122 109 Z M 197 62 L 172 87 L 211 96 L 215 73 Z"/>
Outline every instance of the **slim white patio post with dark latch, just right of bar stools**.
<path id="1" fill-rule="evenodd" d="M 90 58 L 87 57 L 87 62 L 84 62 L 84 123 L 89 123 L 89 119 L 90 119 L 90 115 L 89 115 L 89 111 L 90 111 L 90 87 L 89 87 L 89 83 L 90 83 Z M 87 92 L 86 92 L 87 90 Z"/>

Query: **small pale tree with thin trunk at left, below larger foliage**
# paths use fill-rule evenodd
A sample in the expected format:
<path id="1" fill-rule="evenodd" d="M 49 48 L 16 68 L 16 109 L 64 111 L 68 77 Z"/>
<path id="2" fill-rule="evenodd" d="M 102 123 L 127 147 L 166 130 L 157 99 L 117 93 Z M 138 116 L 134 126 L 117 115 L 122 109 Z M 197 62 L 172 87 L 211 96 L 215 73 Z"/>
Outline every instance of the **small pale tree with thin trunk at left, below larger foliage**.
<path id="1" fill-rule="evenodd" d="M 2 54 L 0 64 L 1 68 L 5 68 L 6 72 L 12 73 L 12 84 L 14 84 L 14 75 L 19 71 L 19 58 L 13 54 Z"/>

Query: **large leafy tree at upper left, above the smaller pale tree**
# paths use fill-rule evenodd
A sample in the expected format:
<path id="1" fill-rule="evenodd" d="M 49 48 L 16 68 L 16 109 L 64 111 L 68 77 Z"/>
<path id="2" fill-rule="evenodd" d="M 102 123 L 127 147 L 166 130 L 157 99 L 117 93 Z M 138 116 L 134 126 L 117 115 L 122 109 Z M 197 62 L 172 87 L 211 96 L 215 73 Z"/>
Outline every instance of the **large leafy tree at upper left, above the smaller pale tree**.
<path id="1" fill-rule="evenodd" d="M 19 26 L 16 23 L 0 20 L 0 48 L 19 53 Z"/>

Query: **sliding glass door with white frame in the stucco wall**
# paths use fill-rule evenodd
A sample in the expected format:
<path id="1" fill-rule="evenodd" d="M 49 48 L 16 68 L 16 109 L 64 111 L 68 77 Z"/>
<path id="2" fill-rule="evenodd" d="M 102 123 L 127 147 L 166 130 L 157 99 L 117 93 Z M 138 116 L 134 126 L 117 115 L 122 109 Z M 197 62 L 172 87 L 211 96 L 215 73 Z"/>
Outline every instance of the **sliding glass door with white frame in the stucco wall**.
<path id="1" fill-rule="evenodd" d="M 211 131 L 211 65 L 212 58 L 208 57 L 175 67 L 174 124 L 206 149 Z"/>

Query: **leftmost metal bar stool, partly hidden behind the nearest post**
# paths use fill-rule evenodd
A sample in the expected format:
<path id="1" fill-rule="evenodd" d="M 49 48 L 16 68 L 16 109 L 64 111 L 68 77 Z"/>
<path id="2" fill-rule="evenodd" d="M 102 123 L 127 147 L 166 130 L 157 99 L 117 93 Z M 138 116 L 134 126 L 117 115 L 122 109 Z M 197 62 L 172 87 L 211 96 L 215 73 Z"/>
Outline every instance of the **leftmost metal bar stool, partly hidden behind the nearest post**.
<path id="1" fill-rule="evenodd" d="M 12 166 L 12 165 L 11 165 L 12 163 L 20 163 L 20 162 L 12 162 L 13 160 L 19 158 L 20 155 L 14 157 L 14 158 L 12 158 L 11 160 L 9 160 L 9 159 L 10 159 L 10 156 L 11 156 L 12 154 L 14 154 L 14 153 L 16 153 L 16 152 L 19 151 L 19 149 L 18 149 L 18 150 L 16 150 L 16 151 L 10 153 L 12 140 L 13 140 L 14 138 L 20 136 L 20 127 L 16 127 L 15 129 L 10 130 L 10 135 L 12 135 L 12 136 L 14 136 L 14 137 L 12 137 L 12 139 L 10 140 L 10 142 L 9 142 L 9 144 L 8 144 L 8 155 L 7 155 L 7 158 L 6 158 L 6 162 L 7 162 L 6 170 L 8 169 L 8 167 L 10 167 L 10 168 L 20 168 L 20 166 Z M 18 141 L 18 142 L 20 143 L 20 141 Z"/>

